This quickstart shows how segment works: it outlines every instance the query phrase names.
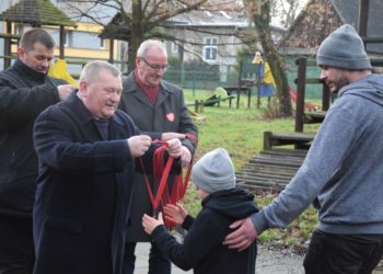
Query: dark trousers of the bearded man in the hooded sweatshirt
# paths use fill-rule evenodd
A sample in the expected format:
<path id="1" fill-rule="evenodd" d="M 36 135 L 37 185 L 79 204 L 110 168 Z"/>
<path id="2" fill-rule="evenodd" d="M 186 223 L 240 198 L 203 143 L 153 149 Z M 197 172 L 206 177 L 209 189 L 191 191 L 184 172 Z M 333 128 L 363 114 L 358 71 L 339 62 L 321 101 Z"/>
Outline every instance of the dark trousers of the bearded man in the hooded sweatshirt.
<path id="1" fill-rule="evenodd" d="M 368 274 L 383 254 L 383 235 L 313 232 L 303 266 L 306 274 Z"/>

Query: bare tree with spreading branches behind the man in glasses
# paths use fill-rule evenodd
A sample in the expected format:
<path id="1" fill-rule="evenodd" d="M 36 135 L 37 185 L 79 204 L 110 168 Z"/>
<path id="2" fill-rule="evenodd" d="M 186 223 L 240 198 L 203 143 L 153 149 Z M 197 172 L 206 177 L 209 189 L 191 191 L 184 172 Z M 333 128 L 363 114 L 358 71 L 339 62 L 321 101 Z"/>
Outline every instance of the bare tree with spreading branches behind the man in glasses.
<path id="1" fill-rule="evenodd" d="M 72 11 L 72 19 L 88 19 L 100 25 L 107 25 L 112 37 L 127 41 L 129 43 L 128 70 L 134 69 L 137 48 L 144 39 L 173 41 L 184 50 L 184 45 L 188 42 L 166 32 L 172 24 L 171 19 L 176 15 L 196 10 L 232 12 L 243 7 L 237 0 L 66 0 L 60 1 L 59 4 L 67 11 Z M 111 18 L 111 12 L 105 12 L 107 10 L 114 10 L 115 13 L 109 24 L 105 23 L 105 19 Z M 193 27 L 188 30 L 204 32 Z M 228 32 L 210 31 L 210 34 L 224 36 L 228 35 Z M 233 30 L 230 35 L 242 35 L 242 38 L 254 43 L 254 37 L 252 41 L 252 37 L 243 34 L 241 30 Z M 194 45 L 202 46 L 202 44 L 198 45 L 198 42 Z"/>

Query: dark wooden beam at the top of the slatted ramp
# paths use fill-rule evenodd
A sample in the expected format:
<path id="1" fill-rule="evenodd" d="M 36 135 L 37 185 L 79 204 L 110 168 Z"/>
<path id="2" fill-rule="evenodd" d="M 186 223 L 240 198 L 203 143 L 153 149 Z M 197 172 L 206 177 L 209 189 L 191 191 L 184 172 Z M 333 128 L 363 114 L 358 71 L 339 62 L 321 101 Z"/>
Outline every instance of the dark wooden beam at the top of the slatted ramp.
<path id="1" fill-rule="evenodd" d="M 271 133 L 264 132 L 264 149 L 271 149 L 274 146 L 294 145 L 297 148 L 309 148 L 313 141 L 313 133 Z"/>

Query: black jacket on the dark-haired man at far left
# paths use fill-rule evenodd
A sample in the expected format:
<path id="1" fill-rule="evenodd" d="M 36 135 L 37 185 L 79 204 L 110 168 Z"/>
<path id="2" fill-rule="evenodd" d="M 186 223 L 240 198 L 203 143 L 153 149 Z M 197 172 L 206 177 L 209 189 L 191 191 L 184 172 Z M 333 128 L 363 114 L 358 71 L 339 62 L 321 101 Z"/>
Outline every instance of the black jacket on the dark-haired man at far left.
<path id="1" fill-rule="evenodd" d="M 0 214 L 31 216 L 37 176 L 32 128 L 37 115 L 60 101 L 65 83 L 21 60 L 0 72 Z"/>

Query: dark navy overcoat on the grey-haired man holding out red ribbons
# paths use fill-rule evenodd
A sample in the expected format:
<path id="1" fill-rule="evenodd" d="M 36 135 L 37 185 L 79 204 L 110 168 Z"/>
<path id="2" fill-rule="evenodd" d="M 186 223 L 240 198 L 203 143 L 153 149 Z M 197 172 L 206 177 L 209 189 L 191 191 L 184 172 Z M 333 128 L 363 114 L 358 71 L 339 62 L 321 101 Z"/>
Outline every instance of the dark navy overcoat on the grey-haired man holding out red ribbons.
<path id="1" fill-rule="evenodd" d="M 35 274 L 120 273 L 135 173 L 126 139 L 138 134 L 117 111 L 104 140 L 74 93 L 38 116 Z"/>

